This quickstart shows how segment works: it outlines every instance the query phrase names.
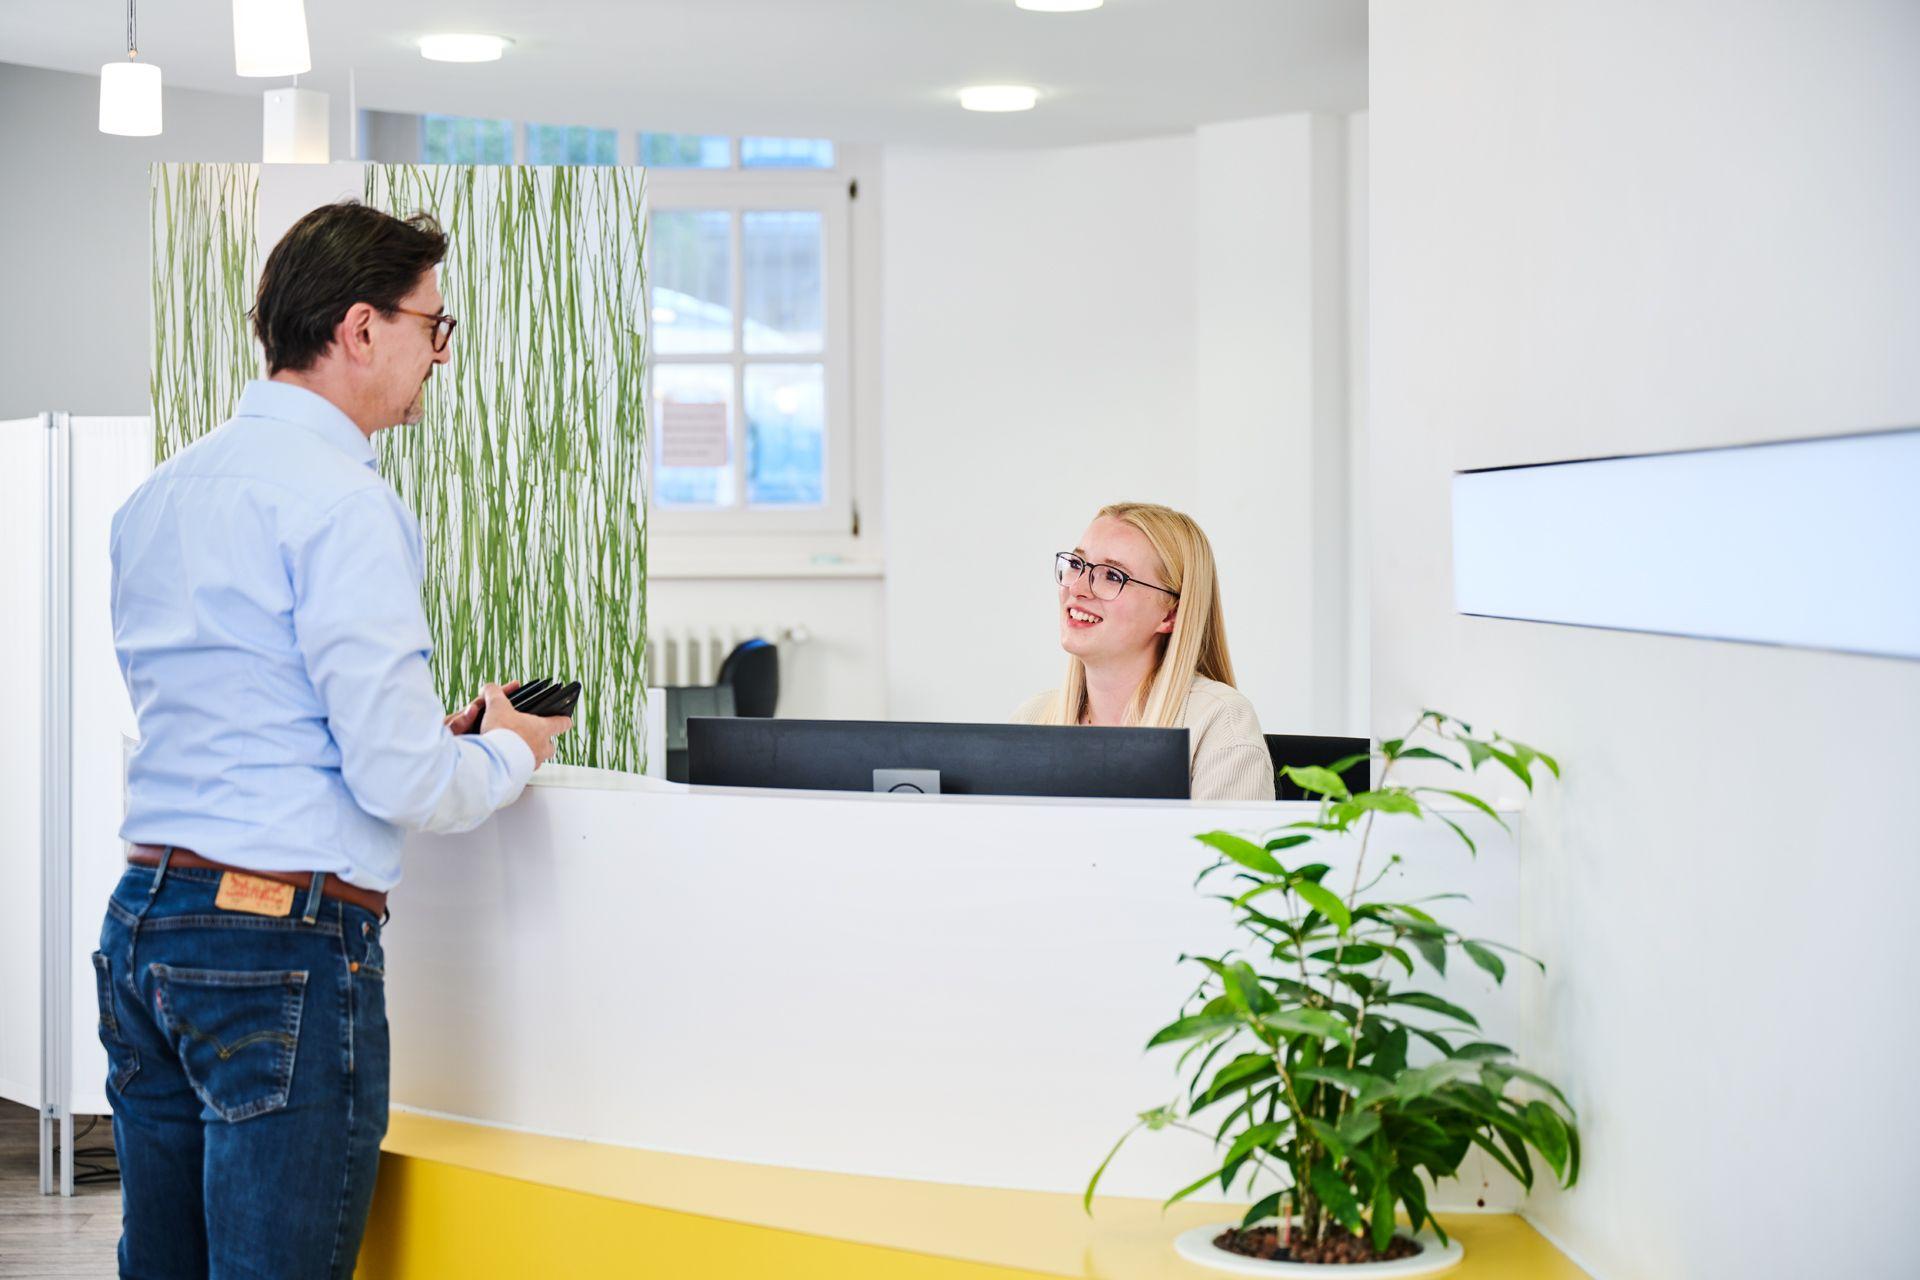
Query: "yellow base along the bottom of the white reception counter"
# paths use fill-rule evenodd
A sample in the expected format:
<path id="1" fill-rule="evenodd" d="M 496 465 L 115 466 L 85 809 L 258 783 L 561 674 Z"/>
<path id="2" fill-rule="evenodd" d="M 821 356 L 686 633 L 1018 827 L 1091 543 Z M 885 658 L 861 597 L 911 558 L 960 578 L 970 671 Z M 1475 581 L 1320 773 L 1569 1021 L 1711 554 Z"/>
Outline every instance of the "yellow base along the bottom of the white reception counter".
<path id="1" fill-rule="evenodd" d="M 1200 1280 L 1173 1238 L 1227 1205 L 774 1169 L 392 1117 L 361 1280 Z M 1524 1221 L 1442 1215 L 1459 1280 L 1582 1280 Z"/>

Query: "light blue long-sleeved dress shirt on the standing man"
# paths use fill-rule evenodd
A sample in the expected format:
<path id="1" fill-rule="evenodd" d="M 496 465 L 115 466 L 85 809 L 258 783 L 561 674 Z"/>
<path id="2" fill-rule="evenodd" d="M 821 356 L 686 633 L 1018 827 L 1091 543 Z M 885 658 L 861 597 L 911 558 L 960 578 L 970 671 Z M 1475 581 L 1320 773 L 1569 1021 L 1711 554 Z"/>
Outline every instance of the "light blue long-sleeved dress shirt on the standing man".
<path id="1" fill-rule="evenodd" d="M 367 436 L 313 391 L 250 382 L 113 514 L 140 720 L 121 839 L 386 890 L 405 831 L 513 802 L 534 754 L 442 723 L 420 578 L 420 526 Z"/>

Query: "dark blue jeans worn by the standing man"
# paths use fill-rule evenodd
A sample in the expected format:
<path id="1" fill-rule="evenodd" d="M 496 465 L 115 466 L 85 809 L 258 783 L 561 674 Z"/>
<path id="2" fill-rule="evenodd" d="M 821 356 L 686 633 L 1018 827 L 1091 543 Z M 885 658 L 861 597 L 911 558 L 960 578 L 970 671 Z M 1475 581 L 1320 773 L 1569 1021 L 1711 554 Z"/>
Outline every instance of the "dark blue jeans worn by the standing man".
<path id="1" fill-rule="evenodd" d="M 380 921 L 219 871 L 129 867 L 94 952 L 121 1167 L 121 1276 L 353 1274 L 386 1136 Z"/>

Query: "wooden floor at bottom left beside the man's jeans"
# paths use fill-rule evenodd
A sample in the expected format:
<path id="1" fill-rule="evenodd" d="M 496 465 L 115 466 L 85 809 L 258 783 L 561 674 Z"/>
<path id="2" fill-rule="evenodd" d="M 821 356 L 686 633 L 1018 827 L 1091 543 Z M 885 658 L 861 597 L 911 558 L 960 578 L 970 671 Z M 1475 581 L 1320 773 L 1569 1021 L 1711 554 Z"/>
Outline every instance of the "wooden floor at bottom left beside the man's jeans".
<path id="1" fill-rule="evenodd" d="M 79 1128 L 86 1128 L 81 1119 Z M 0 1276 L 111 1276 L 119 1247 L 119 1184 L 40 1196 L 40 1136 L 29 1107 L 0 1102 Z M 75 1148 L 113 1146 L 108 1121 Z"/>

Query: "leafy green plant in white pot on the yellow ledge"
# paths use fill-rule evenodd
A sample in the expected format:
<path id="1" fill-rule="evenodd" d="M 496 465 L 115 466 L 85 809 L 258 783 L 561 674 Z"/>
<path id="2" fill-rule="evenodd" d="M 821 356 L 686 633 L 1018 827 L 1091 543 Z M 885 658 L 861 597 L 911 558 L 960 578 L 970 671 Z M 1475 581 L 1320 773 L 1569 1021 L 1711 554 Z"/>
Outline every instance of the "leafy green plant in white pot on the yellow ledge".
<path id="1" fill-rule="evenodd" d="M 1555 777 L 1559 764 L 1498 733 L 1476 737 L 1432 710 L 1371 752 L 1380 760 L 1379 785 L 1350 793 L 1340 773 L 1367 758 L 1283 770 L 1319 796 L 1319 812 L 1265 842 L 1227 831 L 1198 837 L 1217 860 L 1196 885 L 1233 873 L 1233 890 L 1215 896 L 1231 904 L 1246 944 L 1181 958 L 1206 973 L 1148 1048 L 1187 1046 L 1177 1067 L 1185 1092 L 1140 1113 L 1087 1182 L 1091 1211 L 1100 1176 L 1142 1128 L 1187 1128 L 1213 1140 L 1219 1167 L 1175 1192 L 1169 1205 L 1215 1180 L 1231 1192 L 1244 1178 L 1248 1196 L 1261 1184 L 1275 1188 L 1238 1226 L 1181 1238 L 1183 1255 L 1223 1270 L 1308 1274 L 1323 1263 L 1357 1265 L 1357 1274 L 1440 1270 L 1459 1259 L 1459 1244 L 1428 1213 L 1428 1188 L 1455 1176 L 1471 1150 L 1486 1151 L 1524 1188 L 1536 1176 L 1534 1157 L 1563 1186 L 1580 1174 L 1580 1138 L 1561 1090 L 1521 1067 L 1513 1050 L 1480 1040 L 1471 1011 L 1413 984 L 1419 965 L 1444 975 L 1450 960 L 1465 958 L 1496 983 L 1507 977 L 1503 954 L 1540 961 L 1450 929 L 1428 912 L 1432 898 L 1373 898 L 1398 854 L 1365 879 L 1369 854 L 1380 862 L 1369 848 L 1375 823 L 1390 814 L 1438 819 L 1475 852 L 1467 831 L 1428 798 L 1459 800 L 1505 827 L 1473 793 L 1394 783 L 1402 764 L 1440 762 L 1467 773 L 1496 764 L 1528 791 L 1536 762 Z M 1313 858 L 1329 841 L 1357 841 L 1346 885 L 1329 885 L 1331 867 Z M 1202 1121 L 1202 1113 L 1221 1119 Z M 1396 1226 L 1402 1209 L 1404 1230 Z"/>

